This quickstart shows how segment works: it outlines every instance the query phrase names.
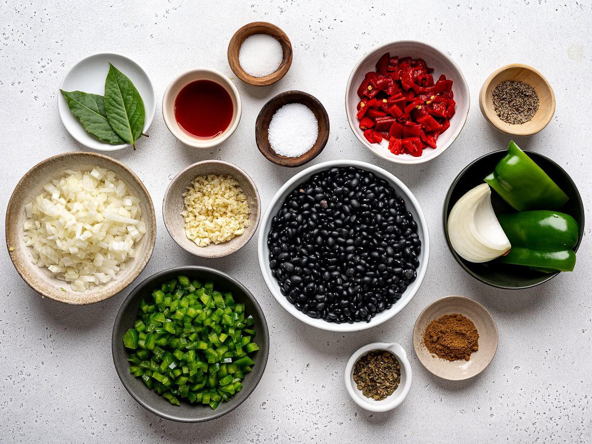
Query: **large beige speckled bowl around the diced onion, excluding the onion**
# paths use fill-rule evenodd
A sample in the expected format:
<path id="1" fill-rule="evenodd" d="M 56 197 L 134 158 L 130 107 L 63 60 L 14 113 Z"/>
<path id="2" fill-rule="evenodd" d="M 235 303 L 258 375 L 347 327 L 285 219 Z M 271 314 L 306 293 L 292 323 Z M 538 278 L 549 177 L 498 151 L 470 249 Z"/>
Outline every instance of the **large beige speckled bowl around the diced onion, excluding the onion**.
<path id="1" fill-rule="evenodd" d="M 142 220 L 146 224 L 146 234 L 136 244 L 136 258 L 130 260 L 127 269 L 117 274 L 117 279 L 95 289 L 76 292 L 59 279 L 53 278 L 47 268 L 39 268 L 31 260 L 31 249 L 25 246 L 23 223 L 26 220 L 25 205 L 43 191 L 43 185 L 62 176 L 66 169 L 91 170 L 95 166 L 107 168 L 126 182 L 131 193 L 140 200 Z M 134 172 L 121 162 L 98 153 L 70 152 L 43 160 L 22 177 L 12 192 L 6 211 L 6 243 L 12 263 L 22 279 L 39 294 L 66 304 L 92 304 L 110 298 L 122 291 L 146 267 L 152 256 L 156 242 L 156 216 L 150 194 Z M 11 251 L 11 248 L 14 249 Z M 66 288 L 63 291 L 61 288 Z"/>

